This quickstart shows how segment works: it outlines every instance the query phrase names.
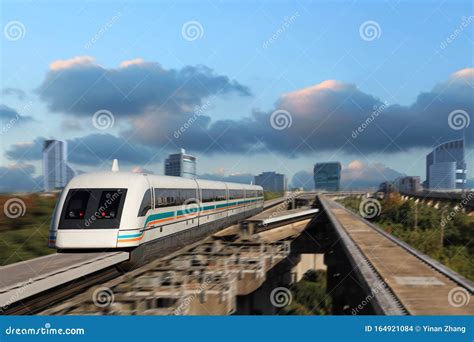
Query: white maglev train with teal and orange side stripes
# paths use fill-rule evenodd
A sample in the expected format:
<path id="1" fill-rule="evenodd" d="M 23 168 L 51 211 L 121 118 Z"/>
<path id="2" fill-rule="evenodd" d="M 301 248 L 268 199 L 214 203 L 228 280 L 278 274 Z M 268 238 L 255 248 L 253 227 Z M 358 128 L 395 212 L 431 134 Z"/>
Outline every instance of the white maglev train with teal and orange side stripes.
<path id="1" fill-rule="evenodd" d="M 85 173 L 61 193 L 49 246 L 59 252 L 130 250 L 140 263 L 262 210 L 263 189 L 256 185 L 118 170 Z"/>

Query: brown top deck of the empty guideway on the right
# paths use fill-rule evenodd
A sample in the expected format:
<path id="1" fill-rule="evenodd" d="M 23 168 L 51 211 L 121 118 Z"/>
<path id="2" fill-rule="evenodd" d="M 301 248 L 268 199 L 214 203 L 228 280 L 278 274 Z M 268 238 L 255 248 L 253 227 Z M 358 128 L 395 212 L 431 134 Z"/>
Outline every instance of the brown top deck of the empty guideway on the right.
<path id="1" fill-rule="evenodd" d="M 320 201 L 333 224 L 342 227 L 343 234 L 346 233 L 357 247 L 358 251 L 352 251 L 352 257 L 358 252 L 363 254 L 377 273 L 378 283 L 386 284 L 407 313 L 474 314 L 472 282 L 388 236 L 334 201 L 324 196 L 320 196 Z M 366 281 L 374 283 L 374 279 Z M 462 298 L 461 303 L 459 298 Z M 382 298 L 384 300 L 390 303 L 390 298 Z"/>

